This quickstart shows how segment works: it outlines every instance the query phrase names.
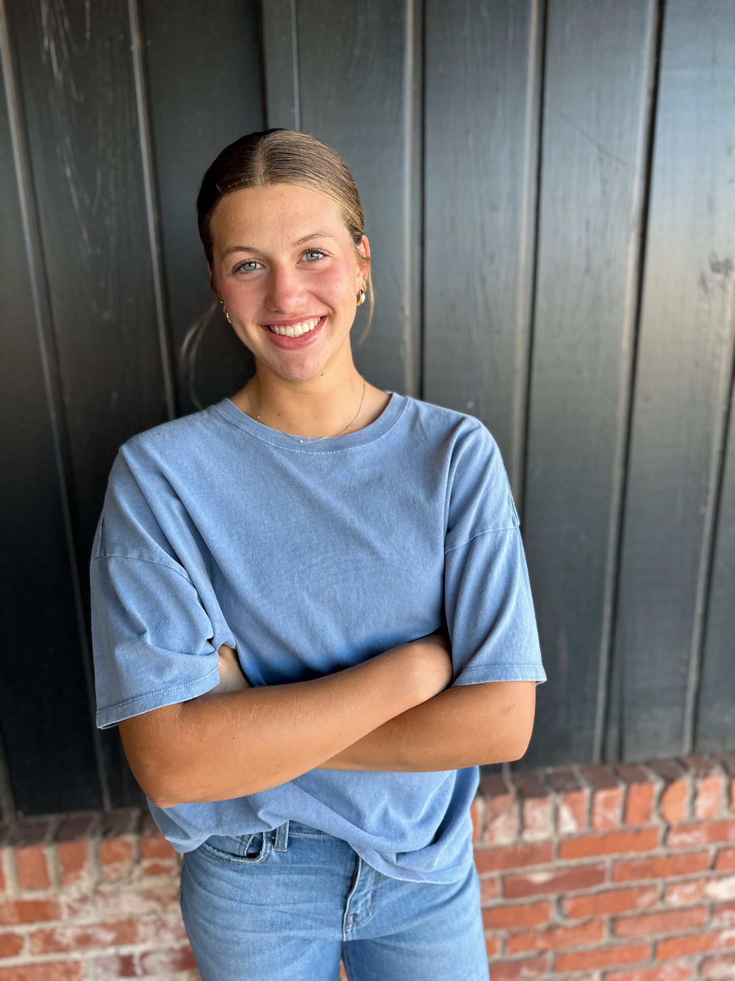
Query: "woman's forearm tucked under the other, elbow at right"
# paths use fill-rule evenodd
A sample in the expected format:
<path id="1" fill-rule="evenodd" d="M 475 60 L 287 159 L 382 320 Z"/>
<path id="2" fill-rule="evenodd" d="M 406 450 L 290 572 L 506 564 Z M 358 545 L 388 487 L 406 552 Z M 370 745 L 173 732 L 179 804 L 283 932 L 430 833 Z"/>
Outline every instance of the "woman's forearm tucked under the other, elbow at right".
<path id="1" fill-rule="evenodd" d="M 530 738 L 535 687 L 489 682 L 449 688 L 384 722 L 318 769 L 417 772 L 517 759 Z"/>

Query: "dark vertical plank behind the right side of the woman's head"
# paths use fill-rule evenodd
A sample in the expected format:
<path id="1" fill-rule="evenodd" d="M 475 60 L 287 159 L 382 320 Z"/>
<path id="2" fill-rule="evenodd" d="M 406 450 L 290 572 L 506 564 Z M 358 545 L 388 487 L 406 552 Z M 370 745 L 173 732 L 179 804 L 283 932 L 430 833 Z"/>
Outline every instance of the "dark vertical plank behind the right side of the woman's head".
<path id="1" fill-rule="evenodd" d="M 417 395 L 422 3 L 299 0 L 296 13 L 301 129 L 346 161 L 366 216 L 375 311 L 364 340 L 368 304 L 356 311 L 355 363 L 373 385 Z"/>

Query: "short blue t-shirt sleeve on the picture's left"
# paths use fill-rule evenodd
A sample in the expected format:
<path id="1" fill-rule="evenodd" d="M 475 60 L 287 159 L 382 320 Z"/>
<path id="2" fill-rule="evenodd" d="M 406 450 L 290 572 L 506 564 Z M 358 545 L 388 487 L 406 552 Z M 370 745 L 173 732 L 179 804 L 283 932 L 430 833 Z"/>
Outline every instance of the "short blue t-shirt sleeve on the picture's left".
<path id="1" fill-rule="evenodd" d="M 122 458 L 97 527 L 90 587 L 98 728 L 217 686 L 211 619 Z"/>

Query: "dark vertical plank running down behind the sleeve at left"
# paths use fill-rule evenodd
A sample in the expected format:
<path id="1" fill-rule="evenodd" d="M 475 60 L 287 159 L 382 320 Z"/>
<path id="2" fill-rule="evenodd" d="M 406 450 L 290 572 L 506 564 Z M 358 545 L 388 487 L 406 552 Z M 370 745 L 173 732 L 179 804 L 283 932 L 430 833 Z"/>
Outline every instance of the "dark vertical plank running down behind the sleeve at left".
<path id="1" fill-rule="evenodd" d="M 58 409 L 75 561 L 88 615 L 89 555 L 113 459 L 125 439 L 169 417 L 134 45 L 125 0 L 16 4 L 9 24 L 63 393 Z M 88 661 L 88 623 L 85 629 Z M 98 738 L 108 802 L 138 802 L 118 730 Z"/>

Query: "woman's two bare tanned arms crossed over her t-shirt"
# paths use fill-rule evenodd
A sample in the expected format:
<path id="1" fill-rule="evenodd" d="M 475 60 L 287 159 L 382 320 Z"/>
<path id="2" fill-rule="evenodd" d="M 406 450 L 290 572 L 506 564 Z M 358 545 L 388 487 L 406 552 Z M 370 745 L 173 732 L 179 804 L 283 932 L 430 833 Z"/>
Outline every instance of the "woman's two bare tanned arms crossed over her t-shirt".
<path id="1" fill-rule="evenodd" d="M 160 807 L 257 794 L 316 768 L 502 762 L 530 739 L 535 682 L 448 688 L 440 632 L 331 675 L 259 688 L 234 650 L 223 645 L 219 658 L 215 689 L 120 722 L 130 768 Z"/>

